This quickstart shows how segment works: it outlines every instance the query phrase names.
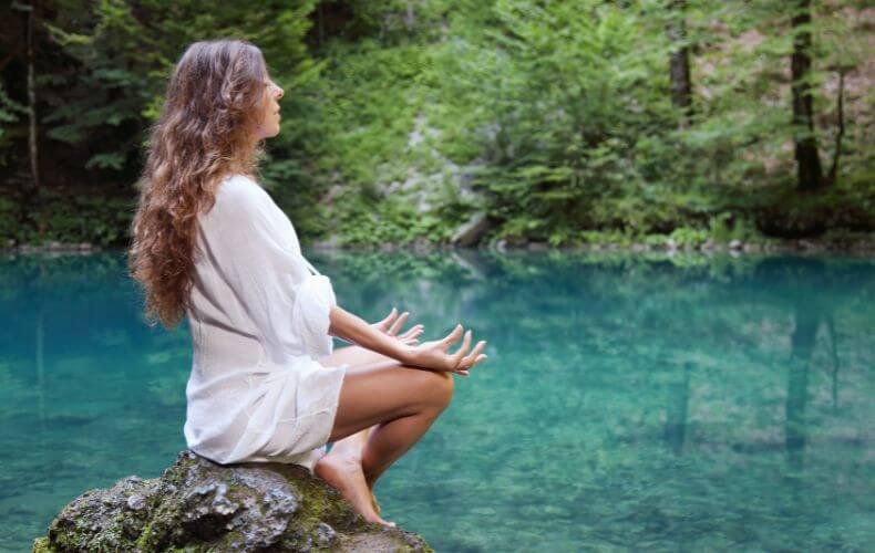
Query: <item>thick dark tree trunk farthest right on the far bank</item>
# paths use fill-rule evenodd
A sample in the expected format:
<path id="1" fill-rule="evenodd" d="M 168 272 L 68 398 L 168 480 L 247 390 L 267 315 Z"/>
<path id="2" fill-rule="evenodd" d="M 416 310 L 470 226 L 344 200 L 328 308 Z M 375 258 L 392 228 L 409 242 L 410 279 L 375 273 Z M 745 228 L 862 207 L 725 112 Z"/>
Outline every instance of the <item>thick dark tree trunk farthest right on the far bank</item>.
<path id="1" fill-rule="evenodd" d="M 825 180 L 814 136 L 814 108 L 811 84 L 811 0 L 793 2 L 793 54 L 790 59 L 793 73 L 793 140 L 795 142 L 797 187 L 817 190 Z M 803 28 L 803 29 L 800 29 Z"/>

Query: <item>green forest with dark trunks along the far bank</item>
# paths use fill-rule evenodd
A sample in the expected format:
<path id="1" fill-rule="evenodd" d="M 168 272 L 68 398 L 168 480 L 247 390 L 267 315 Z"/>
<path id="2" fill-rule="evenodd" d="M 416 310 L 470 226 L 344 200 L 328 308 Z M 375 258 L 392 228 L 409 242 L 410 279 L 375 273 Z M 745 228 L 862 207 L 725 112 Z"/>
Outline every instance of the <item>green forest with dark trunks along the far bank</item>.
<path id="1" fill-rule="evenodd" d="M 864 0 L 13 0 L 0 247 L 124 247 L 193 41 L 285 88 L 261 180 L 336 247 L 646 248 L 875 230 Z"/>

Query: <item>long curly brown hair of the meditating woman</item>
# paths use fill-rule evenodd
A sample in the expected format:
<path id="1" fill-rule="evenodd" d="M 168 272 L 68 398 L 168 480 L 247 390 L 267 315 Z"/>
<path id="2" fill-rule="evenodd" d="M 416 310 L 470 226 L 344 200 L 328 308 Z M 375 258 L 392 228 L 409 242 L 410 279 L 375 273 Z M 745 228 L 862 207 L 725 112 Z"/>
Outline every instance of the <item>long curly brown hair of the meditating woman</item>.
<path id="1" fill-rule="evenodd" d="M 145 291 L 145 316 L 173 328 L 186 314 L 197 251 L 197 215 L 231 174 L 255 176 L 262 142 L 267 65 L 241 40 L 195 42 L 167 83 L 148 140 L 131 223 L 131 275 Z"/>

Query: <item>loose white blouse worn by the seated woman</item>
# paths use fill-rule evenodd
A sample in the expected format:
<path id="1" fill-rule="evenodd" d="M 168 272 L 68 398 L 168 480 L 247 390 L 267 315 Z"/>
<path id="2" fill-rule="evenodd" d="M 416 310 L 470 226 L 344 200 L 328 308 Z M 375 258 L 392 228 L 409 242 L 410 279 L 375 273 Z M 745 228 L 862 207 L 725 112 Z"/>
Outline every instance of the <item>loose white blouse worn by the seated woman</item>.
<path id="1" fill-rule="evenodd" d="M 291 221 L 249 177 L 226 178 L 198 226 L 187 310 L 188 448 L 219 463 L 276 461 L 312 471 L 347 369 L 318 363 L 332 349 L 331 282 L 303 258 Z"/>

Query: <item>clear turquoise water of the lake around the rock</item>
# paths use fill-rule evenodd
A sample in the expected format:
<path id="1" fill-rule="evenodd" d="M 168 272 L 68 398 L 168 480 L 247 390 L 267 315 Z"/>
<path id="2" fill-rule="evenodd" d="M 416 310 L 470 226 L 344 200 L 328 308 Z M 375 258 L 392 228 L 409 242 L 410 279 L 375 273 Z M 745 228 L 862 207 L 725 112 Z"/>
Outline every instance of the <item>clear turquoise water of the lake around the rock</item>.
<path id="1" fill-rule="evenodd" d="M 437 551 L 864 551 L 875 260 L 313 255 L 342 305 L 490 361 L 378 484 Z M 184 448 L 187 327 L 119 254 L 0 261 L 0 550 Z"/>

